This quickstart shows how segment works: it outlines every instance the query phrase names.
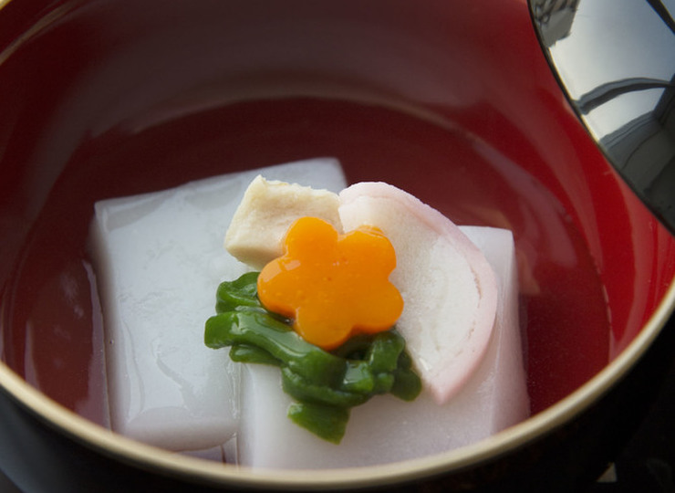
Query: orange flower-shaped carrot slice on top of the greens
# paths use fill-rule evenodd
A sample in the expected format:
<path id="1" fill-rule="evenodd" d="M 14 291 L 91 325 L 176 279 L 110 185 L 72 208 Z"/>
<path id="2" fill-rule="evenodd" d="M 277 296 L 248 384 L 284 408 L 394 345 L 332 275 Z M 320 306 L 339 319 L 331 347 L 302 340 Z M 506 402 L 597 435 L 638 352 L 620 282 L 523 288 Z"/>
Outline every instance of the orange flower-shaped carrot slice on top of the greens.
<path id="1" fill-rule="evenodd" d="M 325 350 L 357 333 L 389 330 L 403 299 L 389 282 L 396 254 L 377 228 L 345 235 L 317 217 L 288 228 L 286 253 L 263 268 L 258 297 L 266 309 L 294 319 L 294 329 Z"/>

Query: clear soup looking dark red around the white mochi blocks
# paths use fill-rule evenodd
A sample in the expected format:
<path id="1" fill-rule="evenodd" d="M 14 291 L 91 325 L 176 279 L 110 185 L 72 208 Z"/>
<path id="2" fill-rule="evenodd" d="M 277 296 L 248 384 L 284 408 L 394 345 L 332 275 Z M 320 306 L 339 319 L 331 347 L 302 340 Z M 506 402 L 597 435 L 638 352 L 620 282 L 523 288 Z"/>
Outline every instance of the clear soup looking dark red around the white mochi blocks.
<path id="1" fill-rule="evenodd" d="M 388 182 L 457 224 L 514 232 L 533 413 L 608 362 L 607 307 L 593 261 L 533 176 L 451 123 L 345 100 L 287 99 L 125 124 L 83 142 L 5 291 L 7 364 L 107 425 L 105 341 L 87 245 L 94 203 L 319 156 L 337 157 L 349 183 Z"/>

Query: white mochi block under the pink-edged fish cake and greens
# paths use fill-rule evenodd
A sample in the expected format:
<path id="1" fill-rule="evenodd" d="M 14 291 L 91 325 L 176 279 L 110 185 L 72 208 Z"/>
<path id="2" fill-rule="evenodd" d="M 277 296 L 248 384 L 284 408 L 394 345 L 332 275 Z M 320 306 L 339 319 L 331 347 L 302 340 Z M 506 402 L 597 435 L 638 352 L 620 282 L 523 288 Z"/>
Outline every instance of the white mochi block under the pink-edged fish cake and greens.
<path id="1" fill-rule="evenodd" d="M 513 236 L 490 227 L 461 229 L 483 251 L 499 288 L 487 350 L 462 389 L 442 405 L 429 389 L 411 403 L 389 394 L 373 397 L 352 409 L 347 432 L 336 446 L 286 417 L 291 399 L 281 390 L 277 368 L 246 364 L 237 434 L 240 464 L 303 469 L 390 463 L 478 442 L 529 415 Z"/>

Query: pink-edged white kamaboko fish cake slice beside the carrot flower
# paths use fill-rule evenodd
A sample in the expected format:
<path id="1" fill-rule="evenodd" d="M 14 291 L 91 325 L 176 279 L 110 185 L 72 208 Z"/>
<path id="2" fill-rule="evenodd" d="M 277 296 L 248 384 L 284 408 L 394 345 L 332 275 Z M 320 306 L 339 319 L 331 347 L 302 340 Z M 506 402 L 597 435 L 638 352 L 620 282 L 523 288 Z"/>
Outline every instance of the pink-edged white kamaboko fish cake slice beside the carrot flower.
<path id="1" fill-rule="evenodd" d="M 377 226 L 394 246 L 390 280 L 404 300 L 396 328 L 435 401 L 447 402 L 490 341 L 497 307 L 493 268 L 450 219 L 393 185 L 354 184 L 339 197 L 345 231 Z"/>

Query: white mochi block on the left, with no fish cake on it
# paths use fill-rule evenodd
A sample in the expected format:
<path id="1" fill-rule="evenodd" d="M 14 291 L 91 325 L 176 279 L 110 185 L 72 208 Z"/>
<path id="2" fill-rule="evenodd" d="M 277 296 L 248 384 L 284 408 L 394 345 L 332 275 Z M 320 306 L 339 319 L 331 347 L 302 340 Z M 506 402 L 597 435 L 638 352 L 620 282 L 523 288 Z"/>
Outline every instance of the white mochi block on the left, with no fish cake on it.
<path id="1" fill-rule="evenodd" d="M 203 332 L 219 283 L 248 270 L 224 251 L 223 232 L 259 173 L 336 193 L 346 186 L 339 163 L 322 158 L 95 205 L 90 245 L 114 431 L 217 460 L 234 443 L 241 365 L 207 348 Z"/>

